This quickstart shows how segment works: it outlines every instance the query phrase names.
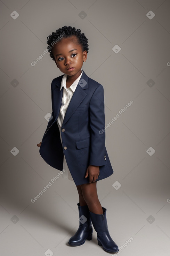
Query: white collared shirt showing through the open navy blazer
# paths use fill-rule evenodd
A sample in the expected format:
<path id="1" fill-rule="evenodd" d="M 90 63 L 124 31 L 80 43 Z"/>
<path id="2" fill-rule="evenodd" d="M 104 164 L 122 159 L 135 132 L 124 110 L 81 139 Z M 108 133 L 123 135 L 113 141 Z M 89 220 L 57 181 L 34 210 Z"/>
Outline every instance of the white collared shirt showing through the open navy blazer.
<path id="1" fill-rule="evenodd" d="M 83 71 L 81 69 L 81 75 L 82 75 L 82 73 L 83 73 Z M 73 93 L 75 92 L 75 89 L 76 89 L 76 87 L 79 83 L 81 75 L 68 88 L 66 87 L 67 75 L 64 74 L 64 76 L 62 78 L 61 87 L 60 87 L 60 90 L 62 90 L 62 88 L 64 87 L 63 88 L 62 105 L 60 107 L 60 112 L 59 112 L 59 115 L 58 115 L 58 118 L 57 118 L 57 121 L 56 121 L 57 125 L 58 125 L 58 128 L 59 128 L 59 132 L 60 132 L 61 142 L 62 142 L 61 127 L 62 127 L 62 124 L 63 124 L 64 116 L 65 116 L 67 107 L 70 104 Z M 62 145 L 63 145 L 63 143 L 62 143 Z M 70 170 L 68 169 L 66 159 L 65 159 L 65 155 L 64 155 L 64 161 L 63 161 L 63 169 L 65 169 L 65 172 L 63 172 L 63 174 L 62 174 L 63 178 L 67 178 L 69 180 L 74 181 L 72 176 L 71 176 Z"/>

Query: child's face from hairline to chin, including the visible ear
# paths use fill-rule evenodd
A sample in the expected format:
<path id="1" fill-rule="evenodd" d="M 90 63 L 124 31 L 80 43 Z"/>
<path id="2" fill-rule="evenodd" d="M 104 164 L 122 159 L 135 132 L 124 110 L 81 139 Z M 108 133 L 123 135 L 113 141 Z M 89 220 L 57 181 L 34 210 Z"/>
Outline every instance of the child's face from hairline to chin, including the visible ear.
<path id="1" fill-rule="evenodd" d="M 52 48 L 52 54 L 59 70 L 68 76 L 79 76 L 83 61 L 87 59 L 87 51 L 82 51 L 74 36 L 63 38 L 56 43 Z"/>

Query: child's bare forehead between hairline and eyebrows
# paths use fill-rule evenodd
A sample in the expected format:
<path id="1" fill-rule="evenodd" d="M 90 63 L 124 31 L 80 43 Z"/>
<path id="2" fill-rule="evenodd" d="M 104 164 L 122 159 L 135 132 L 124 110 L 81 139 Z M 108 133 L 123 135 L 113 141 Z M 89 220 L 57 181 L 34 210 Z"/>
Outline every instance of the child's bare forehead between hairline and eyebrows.
<path id="1" fill-rule="evenodd" d="M 81 50 L 81 45 L 78 44 L 78 39 L 75 36 L 62 38 L 52 47 L 52 52 L 54 54 L 65 53 L 73 49 Z"/>

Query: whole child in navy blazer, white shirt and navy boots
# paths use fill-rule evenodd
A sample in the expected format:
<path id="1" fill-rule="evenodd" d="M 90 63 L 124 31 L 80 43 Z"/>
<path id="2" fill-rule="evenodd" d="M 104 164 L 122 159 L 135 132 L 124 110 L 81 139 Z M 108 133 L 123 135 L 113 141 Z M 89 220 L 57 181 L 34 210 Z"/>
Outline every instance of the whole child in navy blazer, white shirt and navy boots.
<path id="1" fill-rule="evenodd" d="M 68 244 L 80 246 L 92 239 L 118 252 L 106 220 L 96 184 L 113 169 L 105 147 L 104 90 L 81 69 L 87 60 L 88 40 L 80 29 L 64 26 L 47 37 L 50 57 L 64 73 L 52 80 L 52 113 L 43 135 L 40 155 L 52 167 L 74 181 L 79 194 L 79 228 Z M 64 172 L 65 171 L 65 172 Z"/>

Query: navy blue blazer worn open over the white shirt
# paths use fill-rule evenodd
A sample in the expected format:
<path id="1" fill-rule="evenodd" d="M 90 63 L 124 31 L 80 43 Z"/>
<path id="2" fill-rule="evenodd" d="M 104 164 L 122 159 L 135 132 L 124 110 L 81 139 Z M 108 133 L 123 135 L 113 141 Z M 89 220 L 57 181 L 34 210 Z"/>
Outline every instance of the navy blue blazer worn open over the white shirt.
<path id="1" fill-rule="evenodd" d="M 98 180 L 107 178 L 113 169 L 105 147 L 104 89 L 84 71 L 73 93 L 61 127 L 60 140 L 57 118 L 62 104 L 63 75 L 51 82 L 52 119 L 49 120 L 40 146 L 40 155 L 47 164 L 63 170 L 63 157 L 75 185 L 89 183 L 89 165 L 99 166 Z M 64 154 L 64 155 L 63 155 Z"/>

